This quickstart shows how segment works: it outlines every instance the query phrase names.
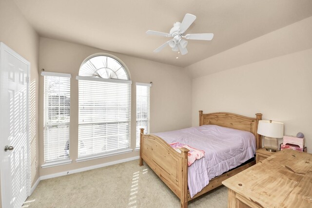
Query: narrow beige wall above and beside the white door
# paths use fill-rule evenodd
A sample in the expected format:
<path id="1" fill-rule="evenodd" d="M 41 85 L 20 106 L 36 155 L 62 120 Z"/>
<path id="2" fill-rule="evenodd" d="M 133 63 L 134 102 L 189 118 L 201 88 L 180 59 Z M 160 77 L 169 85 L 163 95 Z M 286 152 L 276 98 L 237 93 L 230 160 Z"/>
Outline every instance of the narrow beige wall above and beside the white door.
<path id="1" fill-rule="evenodd" d="M 32 185 L 39 178 L 38 160 L 38 63 L 39 37 L 35 30 L 24 19 L 12 0 L 0 0 L 0 42 L 3 42 L 31 63 L 31 180 Z M 1 201 L 0 201 L 1 206 Z"/>

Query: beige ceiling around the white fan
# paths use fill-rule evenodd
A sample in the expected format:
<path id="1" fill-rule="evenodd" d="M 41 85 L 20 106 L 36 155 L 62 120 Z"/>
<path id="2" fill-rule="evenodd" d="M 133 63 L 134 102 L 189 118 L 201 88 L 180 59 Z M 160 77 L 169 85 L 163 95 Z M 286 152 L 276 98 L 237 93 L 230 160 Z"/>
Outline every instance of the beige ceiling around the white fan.
<path id="1" fill-rule="evenodd" d="M 14 0 L 39 36 L 185 67 L 312 16 L 312 0 Z M 166 47 L 186 13 L 197 17 L 186 33 L 214 33 L 189 40 L 182 56 Z"/>

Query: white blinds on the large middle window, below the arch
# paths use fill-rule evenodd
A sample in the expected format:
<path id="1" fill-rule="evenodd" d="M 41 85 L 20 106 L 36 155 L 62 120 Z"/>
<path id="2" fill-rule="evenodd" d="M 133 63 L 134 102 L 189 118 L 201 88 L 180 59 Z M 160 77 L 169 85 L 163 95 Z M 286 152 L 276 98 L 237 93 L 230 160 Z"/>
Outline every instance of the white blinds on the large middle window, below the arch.
<path id="1" fill-rule="evenodd" d="M 78 82 L 78 158 L 130 148 L 131 83 Z"/>

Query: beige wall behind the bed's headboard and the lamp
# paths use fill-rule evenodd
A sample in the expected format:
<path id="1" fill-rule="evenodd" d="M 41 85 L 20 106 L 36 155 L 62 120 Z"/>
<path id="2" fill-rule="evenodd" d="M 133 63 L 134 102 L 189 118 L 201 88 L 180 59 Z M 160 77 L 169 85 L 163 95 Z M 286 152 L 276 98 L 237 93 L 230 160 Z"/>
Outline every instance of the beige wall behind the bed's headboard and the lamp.
<path id="1" fill-rule="evenodd" d="M 192 125 L 198 110 L 263 113 L 283 122 L 286 135 L 303 132 L 312 152 L 311 34 L 312 17 L 188 67 L 195 77 Z"/>

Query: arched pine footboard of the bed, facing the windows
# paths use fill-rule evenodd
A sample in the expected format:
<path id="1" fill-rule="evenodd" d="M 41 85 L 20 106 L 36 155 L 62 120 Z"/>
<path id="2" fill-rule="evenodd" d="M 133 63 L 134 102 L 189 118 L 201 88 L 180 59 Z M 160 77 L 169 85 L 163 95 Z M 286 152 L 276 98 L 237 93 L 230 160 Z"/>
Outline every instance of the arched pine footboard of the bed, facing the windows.
<path id="1" fill-rule="evenodd" d="M 139 165 L 145 163 L 176 194 L 181 207 L 187 208 L 187 155 L 188 149 L 181 148 L 180 153 L 163 139 L 153 134 L 144 134 L 140 129 Z"/>

